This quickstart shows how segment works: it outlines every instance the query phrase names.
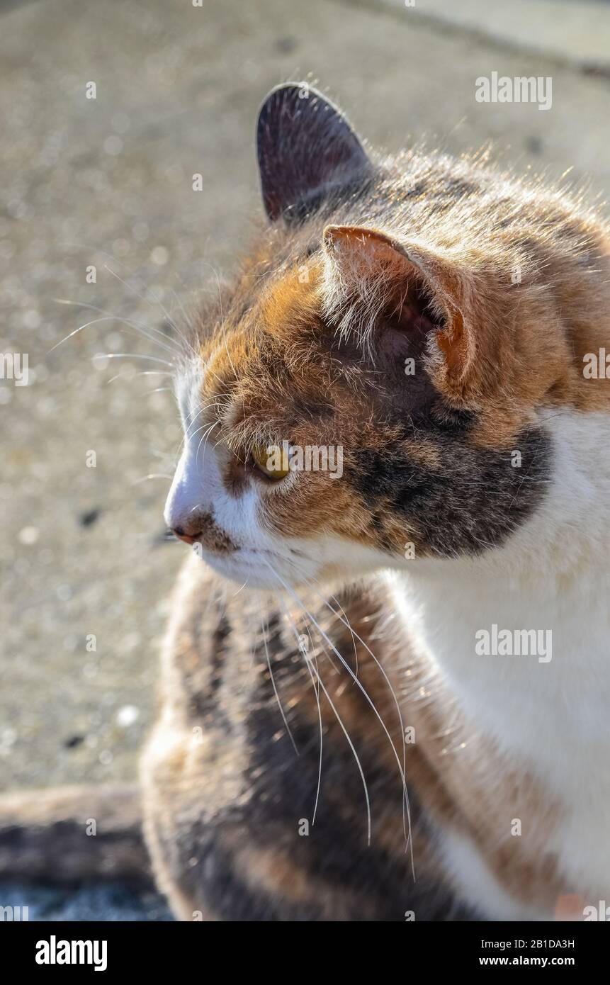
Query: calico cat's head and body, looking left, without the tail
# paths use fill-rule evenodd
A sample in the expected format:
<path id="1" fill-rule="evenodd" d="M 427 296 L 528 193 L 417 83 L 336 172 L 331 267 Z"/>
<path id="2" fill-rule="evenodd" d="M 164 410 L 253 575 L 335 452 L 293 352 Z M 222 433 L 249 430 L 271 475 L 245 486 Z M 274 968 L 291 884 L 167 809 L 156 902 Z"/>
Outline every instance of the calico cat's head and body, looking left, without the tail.
<path id="1" fill-rule="evenodd" d="M 269 223 L 176 382 L 158 884 L 186 920 L 582 919 L 610 897 L 608 230 L 483 159 L 381 157 L 299 85 L 257 150 Z"/>

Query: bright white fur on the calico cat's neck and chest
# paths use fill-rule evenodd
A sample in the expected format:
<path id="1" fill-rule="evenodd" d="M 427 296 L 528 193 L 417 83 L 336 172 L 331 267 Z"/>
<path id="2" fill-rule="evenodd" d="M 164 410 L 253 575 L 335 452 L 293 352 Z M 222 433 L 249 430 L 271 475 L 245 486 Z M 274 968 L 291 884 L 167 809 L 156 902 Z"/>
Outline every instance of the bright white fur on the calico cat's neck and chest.
<path id="1" fill-rule="evenodd" d="M 566 892 L 596 904 L 610 898 L 610 416 L 566 412 L 548 427 L 553 484 L 509 544 L 416 558 L 391 586 L 466 718 L 552 792 L 548 849 Z M 522 652 L 523 630 L 537 650 L 529 632 Z M 518 915 L 483 886 L 476 846 L 449 839 L 447 852 L 492 912 Z"/>

